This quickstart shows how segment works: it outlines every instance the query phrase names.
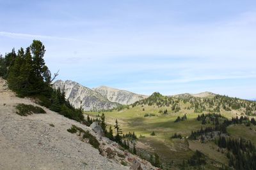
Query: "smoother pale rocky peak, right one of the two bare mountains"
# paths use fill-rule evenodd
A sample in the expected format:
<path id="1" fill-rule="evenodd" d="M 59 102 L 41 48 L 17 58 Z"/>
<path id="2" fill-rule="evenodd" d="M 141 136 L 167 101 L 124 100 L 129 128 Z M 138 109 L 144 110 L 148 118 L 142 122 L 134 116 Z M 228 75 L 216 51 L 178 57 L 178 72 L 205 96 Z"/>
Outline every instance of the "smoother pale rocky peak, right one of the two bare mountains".
<path id="1" fill-rule="evenodd" d="M 113 89 L 106 86 L 100 86 L 92 90 L 99 92 L 99 94 L 106 97 L 109 101 L 120 104 L 132 104 L 148 97 L 140 94 L 134 94 L 126 90 Z"/>

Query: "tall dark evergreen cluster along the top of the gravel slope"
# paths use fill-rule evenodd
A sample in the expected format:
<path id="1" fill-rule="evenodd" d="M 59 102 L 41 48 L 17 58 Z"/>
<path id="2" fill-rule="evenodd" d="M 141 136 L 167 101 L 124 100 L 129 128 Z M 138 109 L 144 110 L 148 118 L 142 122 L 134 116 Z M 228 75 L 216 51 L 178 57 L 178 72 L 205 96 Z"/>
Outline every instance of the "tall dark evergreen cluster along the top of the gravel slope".
<path id="1" fill-rule="evenodd" d="M 8 86 L 17 96 L 35 97 L 39 104 L 50 110 L 84 122 L 83 111 L 75 109 L 66 101 L 65 93 L 60 89 L 52 89 L 51 82 L 58 73 L 52 77 L 51 71 L 45 65 L 44 54 L 45 46 L 38 40 L 33 40 L 26 50 L 20 48 L 16 53 L 13 49 L 5 57 L 0 57 L 0 76 L 7 79 Z"/>

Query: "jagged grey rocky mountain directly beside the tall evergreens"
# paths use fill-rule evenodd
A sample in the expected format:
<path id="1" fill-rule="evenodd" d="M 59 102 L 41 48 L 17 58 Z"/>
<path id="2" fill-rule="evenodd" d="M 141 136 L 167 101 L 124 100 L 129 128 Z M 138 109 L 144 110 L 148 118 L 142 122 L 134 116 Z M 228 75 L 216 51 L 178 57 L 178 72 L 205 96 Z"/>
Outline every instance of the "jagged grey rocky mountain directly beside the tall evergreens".
<path id="1" fill-rule="evenodd" d="M 109 110 L 119 105 L 118 103 L 108 101 L 106 97 L 103 97 L 98 92 L 84 87 L 75 81 L 57 80 L 53 83 L 52 87 L 54 89 L 64 89 L 66 99 L 68 99 L 75 108 L 82 107 L 85 111 Z"/>

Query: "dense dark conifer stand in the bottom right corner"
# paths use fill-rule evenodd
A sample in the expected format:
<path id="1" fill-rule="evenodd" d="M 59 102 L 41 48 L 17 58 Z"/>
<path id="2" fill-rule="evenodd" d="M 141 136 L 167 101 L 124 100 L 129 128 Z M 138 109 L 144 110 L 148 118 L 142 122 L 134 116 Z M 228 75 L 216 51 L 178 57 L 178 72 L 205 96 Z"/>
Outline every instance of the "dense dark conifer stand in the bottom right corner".
<path id="1" fill-rule="evenodd" d="M 251 141 L 220 136 L 216 145 L 227 148 L 228 165 L 234 169 L 255 169 L 256 150 Z"/>

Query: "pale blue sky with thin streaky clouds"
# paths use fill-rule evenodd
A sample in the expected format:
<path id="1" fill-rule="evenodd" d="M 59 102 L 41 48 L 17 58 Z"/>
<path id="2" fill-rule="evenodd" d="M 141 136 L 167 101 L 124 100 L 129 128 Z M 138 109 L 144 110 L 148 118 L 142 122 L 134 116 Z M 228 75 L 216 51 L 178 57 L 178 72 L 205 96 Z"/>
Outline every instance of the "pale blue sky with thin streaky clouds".
<path id="1" fill-rule="evenodd" d="M 256 1 L 0 0 L 0 53 L 33 39 L 86 87 L 256 98 Z"/>

